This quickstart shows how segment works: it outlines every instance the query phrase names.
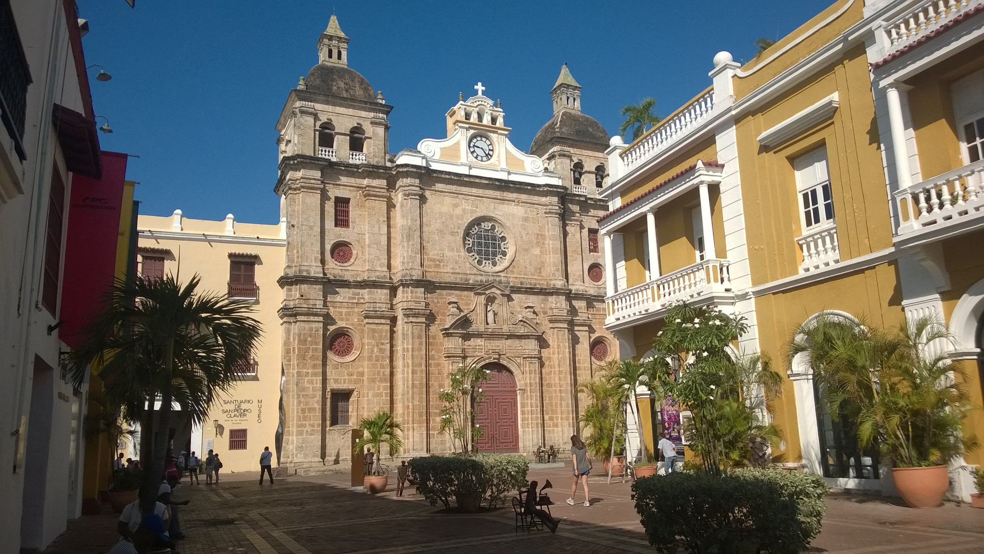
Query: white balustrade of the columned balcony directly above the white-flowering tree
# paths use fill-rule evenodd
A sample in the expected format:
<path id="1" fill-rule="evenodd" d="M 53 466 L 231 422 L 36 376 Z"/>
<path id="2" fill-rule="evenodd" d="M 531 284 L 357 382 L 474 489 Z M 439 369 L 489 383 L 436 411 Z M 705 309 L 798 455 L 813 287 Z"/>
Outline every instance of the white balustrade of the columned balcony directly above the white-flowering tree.
<path id="1" fill-rule="evenodd" d="M 705 260 L 656 277 L 607 298 L 608 322 L 657 312 L 681 300 L 694 300 L 714 292 L 731 292 L 730 262 Z"/>

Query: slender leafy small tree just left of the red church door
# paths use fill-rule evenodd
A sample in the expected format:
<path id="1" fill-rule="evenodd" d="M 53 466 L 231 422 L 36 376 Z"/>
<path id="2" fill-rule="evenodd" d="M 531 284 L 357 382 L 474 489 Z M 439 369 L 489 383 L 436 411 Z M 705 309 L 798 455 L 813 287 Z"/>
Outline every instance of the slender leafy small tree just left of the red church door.
<path id="1" fill-rule="evenodd" d="M 452 448 L 461 454 L 470 453 L 475 441 L 482 437 L 481 427 L 474 423 L 473 407 L 484 398 L 481 386 L 489 380 L 490 373 L 475 365 L 461 365 L 448 374 L 448 388 L 441 389 L 438 395 L 444 402 L 439 432 L 447 434 Z"/>

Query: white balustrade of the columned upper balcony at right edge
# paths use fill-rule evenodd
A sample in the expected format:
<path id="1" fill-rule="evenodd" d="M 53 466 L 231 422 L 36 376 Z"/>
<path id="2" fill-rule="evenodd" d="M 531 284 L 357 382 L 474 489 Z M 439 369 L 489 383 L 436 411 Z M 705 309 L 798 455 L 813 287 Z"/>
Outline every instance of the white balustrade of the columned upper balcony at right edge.
<path id="1" fill-rule="evenodd" d="M 984 159 L 895 192 L 898 235 L 984 213 Z"/>

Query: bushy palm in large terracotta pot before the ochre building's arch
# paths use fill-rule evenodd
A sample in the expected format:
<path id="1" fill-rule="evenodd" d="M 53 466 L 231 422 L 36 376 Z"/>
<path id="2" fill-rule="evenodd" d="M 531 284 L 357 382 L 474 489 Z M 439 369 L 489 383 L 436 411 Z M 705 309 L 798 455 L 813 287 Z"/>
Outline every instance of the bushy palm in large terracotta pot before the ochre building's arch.
<path id="1" fill-rule="evenodd" d="M 912 508 L 943 503 L 947 464 L 964 452 L 965 376 L 945 353 L 929 353 L 952 344 L 946 326 L 929 317 L 887 333 L 839 316 L 818 320 L 790 344 L 790 356 L 809 355 L 830 413 L 850 414 L 858 445 L 878 446 L 892 462 L 895 490 Z"/>

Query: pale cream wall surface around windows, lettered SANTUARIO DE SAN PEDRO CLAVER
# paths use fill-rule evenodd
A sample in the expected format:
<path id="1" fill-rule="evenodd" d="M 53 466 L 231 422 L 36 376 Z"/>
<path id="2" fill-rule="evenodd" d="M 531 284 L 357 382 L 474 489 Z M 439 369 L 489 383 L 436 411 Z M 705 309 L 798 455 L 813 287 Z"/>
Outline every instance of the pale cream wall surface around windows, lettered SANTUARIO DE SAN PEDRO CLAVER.
<path id="1" fill-rule="evenodd" d="M 171 217 L 141 215 L 138 219 L 141 230 L 151 229 L 171 231 Z M 263 337 L 254 352 L 254 359 L 259 362 L 258 381 L 240 381 L 228 393 L 215 400 L 210 413 L 203 424 L 203 442 L 212 439 L 215 452 L 222 460 L 223 471 L 255 471 L 260 452 L 269 446 L 275 450 L 275 434 L 277 431 L 277 404 L 279 402 L 280 383 L 280 320 L 277 310 L 280 307 L 282 292 L 277 284 L 277 278 L 283 273 L 285 247 L 280 245 L 268 246 L 250 243 L 230 243 L 216 240 L 191 240 L 201 238 L 201 233 L 214 233 L 221 237 L 225 235 L 225 221 L 209 221 L 185 217 L 182 220 L 183 232 L 187 239 L 155 239 L 141 237 L 138 247 L 167 248 L 171 255 L 164 258 L 164 273 L 173 273 L 180 281 L 187 281 L 193 275 L 202 277 L 201 290 L 210 290 L 225 294 L 228 290 L 230 252 L 258 254 L 256 265 L 256 281 L 259 287 L 259 301 L 254 305 L 256 313 L 253 317 L 260 321 Z M 265 239 L 278 239 L 279 225 L 257 223 L 235 224 L 236 233 L 244 238 L 257 236 Z M 235 400 L 248 413 L 235 412 Z M 213 420 L 221 425 L 221 436 L 218 436 Z M 232 429 L 247 429 L 247 450 L 230 451 L 229 431 Z M 178 445 L 175 445 L 179 448 Z M 191 450 L 203 455 L 205 445 L 195 444 Z M 201 456 L 204 458 L 204 456 Z"/>

